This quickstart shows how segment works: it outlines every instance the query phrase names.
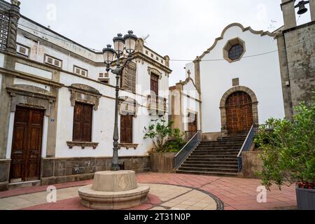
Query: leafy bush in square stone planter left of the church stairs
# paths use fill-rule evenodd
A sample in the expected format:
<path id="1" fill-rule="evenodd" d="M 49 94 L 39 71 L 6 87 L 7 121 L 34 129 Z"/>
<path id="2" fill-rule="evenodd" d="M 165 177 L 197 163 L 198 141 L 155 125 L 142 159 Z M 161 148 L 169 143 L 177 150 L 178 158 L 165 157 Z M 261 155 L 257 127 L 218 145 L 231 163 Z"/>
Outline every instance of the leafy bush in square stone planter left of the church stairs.
<path id="1" fill-rule="evenodd" d="M 172 122 L 151 120 L 144 127 L 144 139 L 153 141 L 150 151 L 151 170 L 153 172 L 174 172 L 174 156 L 181 151 L 186 142 L 178 129 L 172 130 Z"/>

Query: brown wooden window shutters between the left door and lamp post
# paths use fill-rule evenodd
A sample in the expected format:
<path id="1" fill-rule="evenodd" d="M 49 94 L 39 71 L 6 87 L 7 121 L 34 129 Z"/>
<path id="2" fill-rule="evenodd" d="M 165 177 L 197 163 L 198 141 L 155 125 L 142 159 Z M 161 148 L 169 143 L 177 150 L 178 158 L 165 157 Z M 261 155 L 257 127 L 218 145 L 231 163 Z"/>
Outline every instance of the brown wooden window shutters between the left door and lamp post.
<path id="1" fill-rule="evenodd" d="M 93 106 L 76 102 L 73 115 L 73 141 L 92 141 Z"/>

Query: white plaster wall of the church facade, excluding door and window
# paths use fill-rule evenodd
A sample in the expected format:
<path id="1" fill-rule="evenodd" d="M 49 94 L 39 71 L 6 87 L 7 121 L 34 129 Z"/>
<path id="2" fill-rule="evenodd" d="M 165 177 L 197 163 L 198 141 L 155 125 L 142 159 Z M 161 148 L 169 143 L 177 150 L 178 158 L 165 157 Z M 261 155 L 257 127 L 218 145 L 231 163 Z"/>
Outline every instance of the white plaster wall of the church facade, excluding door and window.
<path id="1" fill-rule="evenodd" d="M 239 37 L 246 44 L 246 52 L 238 62 L 229 63 L 223 59 L 223 48 L 228 40 Z M 248 57 L 277 50 L 276 40 L 271 36 L 260 36 L 240 27 L 230 27 L 216 47 L 200 62 L 202 88 L 202 131 L 221 131 L 220 102 L 223 94 L 232 87 L 232 78 L 239 78 L 239 84 L 255 92 L 258 98 L 259 123 L 270 117 L 284 118 L 283 97 L 279 56 L 277 52 L 258 57 Z M 206 62 L 204 60 L 223 59 Z"/>

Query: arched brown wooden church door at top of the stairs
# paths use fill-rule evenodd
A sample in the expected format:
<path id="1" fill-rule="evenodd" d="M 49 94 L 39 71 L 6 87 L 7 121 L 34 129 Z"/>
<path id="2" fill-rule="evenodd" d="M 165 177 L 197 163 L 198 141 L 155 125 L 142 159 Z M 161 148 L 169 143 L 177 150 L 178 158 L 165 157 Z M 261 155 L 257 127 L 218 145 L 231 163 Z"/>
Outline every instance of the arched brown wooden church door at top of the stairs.
<path id="1" fill-rule="evenodd" d="M 246 92 L 235 92 L 225 102 L 228 134 L 244 134 L 253 125 L 253 104 Z"/>

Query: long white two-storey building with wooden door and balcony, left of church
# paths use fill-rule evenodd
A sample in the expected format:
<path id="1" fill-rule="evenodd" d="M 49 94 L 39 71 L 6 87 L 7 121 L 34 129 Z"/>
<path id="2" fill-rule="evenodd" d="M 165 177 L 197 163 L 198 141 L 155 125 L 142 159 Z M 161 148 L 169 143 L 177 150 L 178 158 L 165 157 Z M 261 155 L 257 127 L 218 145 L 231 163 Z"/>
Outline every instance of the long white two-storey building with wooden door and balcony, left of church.
<path id="1" fill-rule="evenodd" d="M 106 73 L 103 53 L 24 16 L 15 21 L 18 29 L 5 27 L 9 11 L 20 17 L 19 7 L 5 1 L 0 6 L 1 29 L 9 30 L 0 51 L 2 188 L 9 182 L 90 179 L 110 169 L 116 76 Z M 169 57 L 138 39 L 120 79 L 119 156 L 125 169 L 149 169 L 153 145 L 144 140 L 144 127 L 168 118 L 170 73 Z"/>

